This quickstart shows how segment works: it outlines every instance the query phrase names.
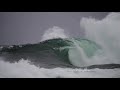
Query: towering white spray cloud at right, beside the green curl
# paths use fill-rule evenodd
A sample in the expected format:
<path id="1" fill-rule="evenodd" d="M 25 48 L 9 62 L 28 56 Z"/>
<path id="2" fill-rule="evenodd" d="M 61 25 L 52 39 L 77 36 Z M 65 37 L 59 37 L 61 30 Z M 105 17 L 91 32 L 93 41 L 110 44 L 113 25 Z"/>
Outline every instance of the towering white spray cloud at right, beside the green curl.
<path id="1" fill-rule="evenodd" d="M 80 26 L 87 39 L 102 46 L 105 58 L 95 56 L 94 64 L 120 64 L 120 13 L 109 13 L 102 20 L 82 18 Z"/>

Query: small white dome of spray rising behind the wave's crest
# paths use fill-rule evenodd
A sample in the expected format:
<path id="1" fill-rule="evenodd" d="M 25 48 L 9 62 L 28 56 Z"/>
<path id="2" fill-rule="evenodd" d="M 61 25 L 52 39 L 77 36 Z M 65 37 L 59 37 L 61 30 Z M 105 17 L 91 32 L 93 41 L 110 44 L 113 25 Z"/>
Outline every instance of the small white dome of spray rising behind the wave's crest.
<path id="1" fill-rule="evenodd" d="M 42 36 L 41 41 L 54 39 L 54 38 L 67 38 L 68 36 L 65 34 L 64 29 L 53 26 L 53 28 L 49 28 L 46 30 Z"/>

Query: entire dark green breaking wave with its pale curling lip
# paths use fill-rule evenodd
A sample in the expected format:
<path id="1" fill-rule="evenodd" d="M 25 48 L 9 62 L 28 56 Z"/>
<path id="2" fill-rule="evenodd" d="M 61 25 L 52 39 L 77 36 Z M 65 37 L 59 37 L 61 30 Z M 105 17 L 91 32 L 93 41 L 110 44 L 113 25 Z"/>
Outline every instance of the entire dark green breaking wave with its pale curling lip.
<path id="1" fill-rule="evenodd" d="M 11 63 L 26 59 L 30 60 L 32 64 L 46 68 L 92 68 L 100 65 L 94 63 L 96 61 L 93 60 L 93 57 L 101 49 L 95 42 L 87 39 L 56 38 L 37 44 L 1 46 L 0 57 Z"/>

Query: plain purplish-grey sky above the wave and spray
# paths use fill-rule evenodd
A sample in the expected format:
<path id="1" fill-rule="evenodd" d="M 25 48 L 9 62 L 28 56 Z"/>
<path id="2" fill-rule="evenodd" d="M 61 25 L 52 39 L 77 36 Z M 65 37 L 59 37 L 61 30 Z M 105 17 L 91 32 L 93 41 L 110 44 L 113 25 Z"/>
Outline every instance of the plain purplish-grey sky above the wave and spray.
<path id="1" fill-rule="evenodd" d="M 82 17 L 104 18 L 108 12 L 0 12 L 0 44 L 37 43 L 53 26 L 65 29 L 71 37 L 82 34 Z"/>

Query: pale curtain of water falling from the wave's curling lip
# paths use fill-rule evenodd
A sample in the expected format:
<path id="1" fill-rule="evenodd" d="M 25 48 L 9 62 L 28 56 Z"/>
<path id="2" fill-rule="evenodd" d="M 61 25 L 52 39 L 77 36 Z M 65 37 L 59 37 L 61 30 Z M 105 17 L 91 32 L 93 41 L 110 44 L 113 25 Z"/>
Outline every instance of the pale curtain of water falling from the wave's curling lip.
<path id="1" fill-rule="evenodd" d="M 71 41 L 73 42 L 74 48 L 69 49 L 69 52 L 68 52 L 70 62 L 77 67 L 88 66 L 87 64 L 88 60 L 84 50 L 79 46 L 79 44 L 75 39 L 72 38 Z"/>

